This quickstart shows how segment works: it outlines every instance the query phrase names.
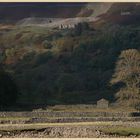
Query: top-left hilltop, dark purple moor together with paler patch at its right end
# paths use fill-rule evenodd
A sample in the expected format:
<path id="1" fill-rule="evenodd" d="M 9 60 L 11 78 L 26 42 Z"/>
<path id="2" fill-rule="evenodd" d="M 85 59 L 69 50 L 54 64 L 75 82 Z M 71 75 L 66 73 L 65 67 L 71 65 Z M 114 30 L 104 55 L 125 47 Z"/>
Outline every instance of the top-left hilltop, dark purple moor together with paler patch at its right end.
<path id="1" fill-rule="evenodd" d="M 0 6 L 0 22 L 16 23 L 29 17 L 96 17 L 105 13 L 111 5 L 112 3 L 2 3 Z"/>

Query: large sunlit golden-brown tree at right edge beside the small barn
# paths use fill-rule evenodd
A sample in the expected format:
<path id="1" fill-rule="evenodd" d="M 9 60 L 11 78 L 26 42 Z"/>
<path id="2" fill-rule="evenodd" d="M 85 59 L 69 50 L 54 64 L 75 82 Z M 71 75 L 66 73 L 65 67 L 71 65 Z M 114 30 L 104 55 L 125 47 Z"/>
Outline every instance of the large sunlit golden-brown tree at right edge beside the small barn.
<path id="1" fill-rule="evenodd" d="M 116 94 L 119 102 L 136 108 L 140 106 L 140 52 L 138 50 L 122 51 L 111 83 L 125 85 Z"/>

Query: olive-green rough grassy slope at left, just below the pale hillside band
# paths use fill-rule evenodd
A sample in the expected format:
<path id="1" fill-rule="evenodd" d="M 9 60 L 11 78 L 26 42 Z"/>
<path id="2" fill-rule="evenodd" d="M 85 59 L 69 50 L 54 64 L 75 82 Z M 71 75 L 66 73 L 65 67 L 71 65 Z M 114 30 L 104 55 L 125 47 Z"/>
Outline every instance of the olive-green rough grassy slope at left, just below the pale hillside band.
<path id="1" fill-rule="evenodd" d="M 48 36 L 56 33 L 56 30 L 51 30 L 45 27 L 18 27 L 16 26 L 11 31 L 0 36 L 0 43 L 5 47 L 30 47 L 37 46 L 42 40 L 45 40 Z M 10 44 L 10 46 L 9 46 Z"/>

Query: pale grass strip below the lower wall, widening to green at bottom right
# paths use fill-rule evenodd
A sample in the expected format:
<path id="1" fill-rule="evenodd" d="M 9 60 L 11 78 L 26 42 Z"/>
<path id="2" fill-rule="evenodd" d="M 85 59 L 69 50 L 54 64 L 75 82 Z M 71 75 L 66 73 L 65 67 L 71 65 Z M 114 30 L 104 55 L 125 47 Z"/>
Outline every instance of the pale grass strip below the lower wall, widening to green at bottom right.
<path id="1" fill-rule="evenodd" d="M 36 123 L 36 124 L 0 124 L 0 131 L 30 131 L 48 127 L 101 127 L 99 130 L 107 135 L 140 136 L 140 127 L 126 127 L 127 123 L 114 122 L 76 122 L 76 123 Z"/>

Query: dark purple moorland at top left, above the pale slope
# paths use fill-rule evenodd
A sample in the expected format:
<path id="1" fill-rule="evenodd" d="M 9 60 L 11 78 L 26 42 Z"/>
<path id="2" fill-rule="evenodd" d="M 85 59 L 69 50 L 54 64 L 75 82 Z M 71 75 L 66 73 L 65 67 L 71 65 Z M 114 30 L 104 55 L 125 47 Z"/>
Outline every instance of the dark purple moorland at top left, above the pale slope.
<path id="1" fill-rule="evenodd" d="M 75 17 L 84 6 L 85 3 L 1 3 L 0 21 L 15 23 L 27 17 Z"/>

